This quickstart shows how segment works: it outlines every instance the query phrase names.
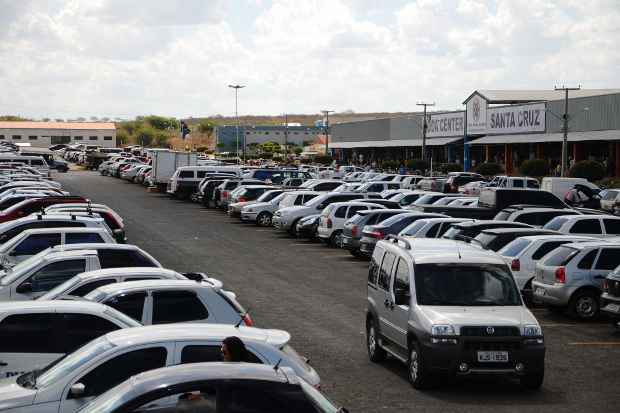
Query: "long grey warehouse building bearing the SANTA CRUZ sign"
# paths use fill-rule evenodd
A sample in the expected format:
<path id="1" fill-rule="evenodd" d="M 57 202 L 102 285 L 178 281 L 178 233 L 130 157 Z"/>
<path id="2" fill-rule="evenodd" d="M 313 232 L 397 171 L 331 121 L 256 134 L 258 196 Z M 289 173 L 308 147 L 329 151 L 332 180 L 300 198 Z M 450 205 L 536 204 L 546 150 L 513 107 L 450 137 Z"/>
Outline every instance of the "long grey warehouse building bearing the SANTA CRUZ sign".
<path id="1" fill-rule="evenodd" d="M 477 90 L 464 111 L 427 115 L 427 153 L 436 163 L 503 164 L 508 173 L 527 159 L 561 159 L 564 92 Z M 568 99 L 570 162 L 598 160 L 620 176 L 620 90 L 577 90 Z M 424 117 L 332 125 L 330 147 L 342 161 L 421 157 Z"/>

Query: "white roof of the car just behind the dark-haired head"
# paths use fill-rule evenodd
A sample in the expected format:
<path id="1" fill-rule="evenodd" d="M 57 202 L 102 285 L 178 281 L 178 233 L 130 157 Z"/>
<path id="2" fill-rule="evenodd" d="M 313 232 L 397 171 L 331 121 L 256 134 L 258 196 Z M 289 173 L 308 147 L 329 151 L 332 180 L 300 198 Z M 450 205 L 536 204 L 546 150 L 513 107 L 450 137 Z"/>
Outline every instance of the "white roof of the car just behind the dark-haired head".
<path id="1" fill-rule="evenodd" d="M 229 324 L 161 324 L 131 329 L 121 329 L 106 334 L 106 338 L 118 346 L 134 346 L 160 341 L 223 340 L 237 336 L 241 340 L 253 340 L 278 347 L 284 346 L 291 335 L 284 330 L 263 329 Z"/>

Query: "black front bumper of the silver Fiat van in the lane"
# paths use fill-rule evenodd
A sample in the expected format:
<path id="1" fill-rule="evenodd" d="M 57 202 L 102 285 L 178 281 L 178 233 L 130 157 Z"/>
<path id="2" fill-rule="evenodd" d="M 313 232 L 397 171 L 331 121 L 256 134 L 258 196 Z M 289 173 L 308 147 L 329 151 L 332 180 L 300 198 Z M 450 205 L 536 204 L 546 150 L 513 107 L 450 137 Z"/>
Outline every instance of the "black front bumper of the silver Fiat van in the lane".
<path id="1" fill-rule="evenodd" d="M 422 360 L 431 371 L 443 374 L 512 375 L 544 371 L 545 345 L 535 338 L 525 344 L 523 337 L 458 337 L 456 344 L 426 342 L 421 345 Z M 506 351 L 507 362 L 480 362 L 479 351 Z M 466 369 L 460 369 L 466 364 Z M 518 370 L 517 364 L 523 369 Z"/>

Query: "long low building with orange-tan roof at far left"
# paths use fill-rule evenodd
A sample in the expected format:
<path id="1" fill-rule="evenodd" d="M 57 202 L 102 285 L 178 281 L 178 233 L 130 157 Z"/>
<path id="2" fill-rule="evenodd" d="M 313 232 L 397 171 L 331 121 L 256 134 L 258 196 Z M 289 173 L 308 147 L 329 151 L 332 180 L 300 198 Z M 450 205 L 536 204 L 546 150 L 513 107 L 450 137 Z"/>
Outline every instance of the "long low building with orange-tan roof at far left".
<path id="1" fill-rule="evenodd" d="M 27 143 L 38 148 L 58 144 L 116 147 L 116 126 L 111 122 L 5 122 L 0 121 L 0 142 Z"/>

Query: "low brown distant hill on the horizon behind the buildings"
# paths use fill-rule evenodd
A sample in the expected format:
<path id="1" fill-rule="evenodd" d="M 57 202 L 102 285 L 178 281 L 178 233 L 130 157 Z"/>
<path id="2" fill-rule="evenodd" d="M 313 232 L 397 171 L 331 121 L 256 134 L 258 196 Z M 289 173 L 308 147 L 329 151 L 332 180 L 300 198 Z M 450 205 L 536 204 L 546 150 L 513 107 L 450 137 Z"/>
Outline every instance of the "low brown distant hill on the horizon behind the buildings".
<path id="1" fill-rule="evenodd" d="M 413 115 L 418 112 L 377 112 L 377 113 L 330 113 L 329 114 L 329 123 L 342 123 L 342 122 L 351 122 L 351 121 L 362 121 L 362 120 L 370 120 L 370 119 L 378 119 L 378 118 L 393 118 L 400 116 L 408 116 Z M 289 114 L 288 122 L 289 123 L 301 123 L 302 125 L 314 125 L 319 119 L 322 119 L 323 115 L 321 114 Z M 187 119 L 188 124 L 197 124 L 202 120 L 209 120 L 218 125 L 234 125 L 236 119 L 234 116 L 209 116 L 205 118 L 189 118 Z M 284 123 L 283 116 L 239 116 L 239 123 L 241 125 L 281 125 Z"/>

